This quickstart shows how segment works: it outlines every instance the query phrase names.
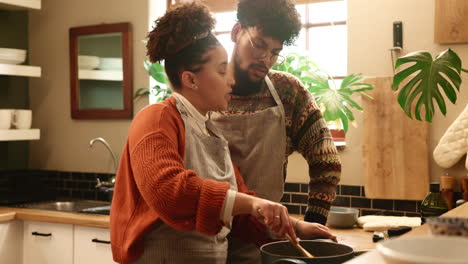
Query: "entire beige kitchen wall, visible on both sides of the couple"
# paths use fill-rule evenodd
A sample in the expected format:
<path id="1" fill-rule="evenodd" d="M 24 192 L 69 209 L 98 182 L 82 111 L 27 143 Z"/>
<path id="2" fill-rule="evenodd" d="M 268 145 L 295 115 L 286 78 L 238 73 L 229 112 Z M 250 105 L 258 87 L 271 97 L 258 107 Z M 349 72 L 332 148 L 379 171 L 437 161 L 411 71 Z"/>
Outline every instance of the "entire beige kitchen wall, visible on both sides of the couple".
<path id="1" fill-rule="evenodd" d="M 149 15 L 161 14 L 157 0 L 125 1 L 43 1 L 40 11 L 30 12 L 29 53 L 33 65 L 42 66 L 42 78 L 30 80 L 33 126 L 41 128 L 41 140 L 31 142 L 31 168 L 82 172 L 112 172 L 112 161 L 102 146 L 88 148 L 91 138 L 106 138 L 120 157 L 130 120 L 87 121 L 70 118 L 68 29 L 81 25 L 129 21 L 133 25 L 134 89 L 148 86 L 148 75 L 141 66 L 145 47 L 141 43 L 148 30 Z M 151 8 L 149 8 L 149 6 Z M 149 10 L 150 9 L 150 10 Z M 151 12 L 150 12 L 151 11 Z M 388 49 L 392 45 L 392 23 L 403 21 L 404 53 L 427 50 L 433 54 L 446 45 L 433 42 L 433 0 L 348 0 L 348 70 L 367 76 L 390 76 L 392 65 Z M 468 44 L 450 45 L 468 68 Z M 430 130 L 430 149 L 468 103 L 468 74 L 456 106 L 448 107 L 447 117 L 437 114 Z M 147 100 L 137 100 L 135 113 Z M 362 118 L 347 134 L 347 147 L 340 152 L 343 161 L 342 184 L 362 185 Z M 466 174 L 463 164 L 447 170 L 451 175 Z M 431 179 L 445 173 L 431 160 Z M 308 182 L 308 168 L 298 154 L 289 161 L 288 181 Z"/>

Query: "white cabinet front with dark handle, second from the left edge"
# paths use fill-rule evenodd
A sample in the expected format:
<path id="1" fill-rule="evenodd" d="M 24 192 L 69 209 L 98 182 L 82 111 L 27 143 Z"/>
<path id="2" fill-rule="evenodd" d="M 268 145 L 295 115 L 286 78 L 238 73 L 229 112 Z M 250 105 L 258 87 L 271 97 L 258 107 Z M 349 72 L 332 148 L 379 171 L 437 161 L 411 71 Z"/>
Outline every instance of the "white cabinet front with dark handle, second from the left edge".
<path id="1" fill-rule="evenodd" d="M 72 264 L 73 225 L 24 221 L 23 264 Z"/>

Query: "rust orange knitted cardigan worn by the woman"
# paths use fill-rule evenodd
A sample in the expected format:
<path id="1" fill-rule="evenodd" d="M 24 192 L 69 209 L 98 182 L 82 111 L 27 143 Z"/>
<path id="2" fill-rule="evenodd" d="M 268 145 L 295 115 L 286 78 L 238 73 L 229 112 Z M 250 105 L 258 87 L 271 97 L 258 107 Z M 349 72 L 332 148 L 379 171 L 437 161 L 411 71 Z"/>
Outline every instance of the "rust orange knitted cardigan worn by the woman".
<path id="1" fill-rule="evenodd" d="M 184 168 L 185 127 L 173 97 L 147 106 L 132 122 L 120 159 L 110 214 L 111 247 L 118 263 L 143 253 L 143 238 L 157 221 L 179 231 L 215 235 L 228 182 L 202 179 Z M 247 190 L 234 166 L 238 190 Z M 239 226 L 239 228 L 237 227 Z M 265 227 L 253 217 L 233 220 L 238 238 L 268 242 Z M 253 238 L 253 239 L 251 239 Z"/>

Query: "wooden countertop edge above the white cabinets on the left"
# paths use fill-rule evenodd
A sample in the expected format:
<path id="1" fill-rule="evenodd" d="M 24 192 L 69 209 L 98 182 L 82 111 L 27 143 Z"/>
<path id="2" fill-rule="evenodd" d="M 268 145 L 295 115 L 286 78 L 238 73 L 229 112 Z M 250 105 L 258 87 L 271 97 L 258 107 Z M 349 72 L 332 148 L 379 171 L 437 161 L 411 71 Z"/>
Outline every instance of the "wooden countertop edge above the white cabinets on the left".
<path id="1" fill-rule="evenodd" d="M 109 216 L 107 215 L 0 207 L 0 223 L 11 220 L 31 220 L 58 224 L 109 228 Z"/>

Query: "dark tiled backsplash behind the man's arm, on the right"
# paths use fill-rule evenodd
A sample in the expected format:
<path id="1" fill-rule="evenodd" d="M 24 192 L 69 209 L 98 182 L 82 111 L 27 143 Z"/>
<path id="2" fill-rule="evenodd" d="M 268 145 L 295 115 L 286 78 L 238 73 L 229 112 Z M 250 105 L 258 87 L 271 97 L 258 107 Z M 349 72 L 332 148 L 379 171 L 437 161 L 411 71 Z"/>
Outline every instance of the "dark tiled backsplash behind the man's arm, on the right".
<path id="1" fill-rule="evenodd" d="M 289 213 L 304 214 L 307 209 L 308 184 L 286 183 L 281 203 Z M 420 216 L 421 201 L 368 199 L 365 197 L 364 186 L 338 185 L 337 197 L 333 206 L 353 207 L 360 211 L 360 215 L 395 215 Z M 461 199 L 461 193 L 455 193 L 455 200 Z"/>

